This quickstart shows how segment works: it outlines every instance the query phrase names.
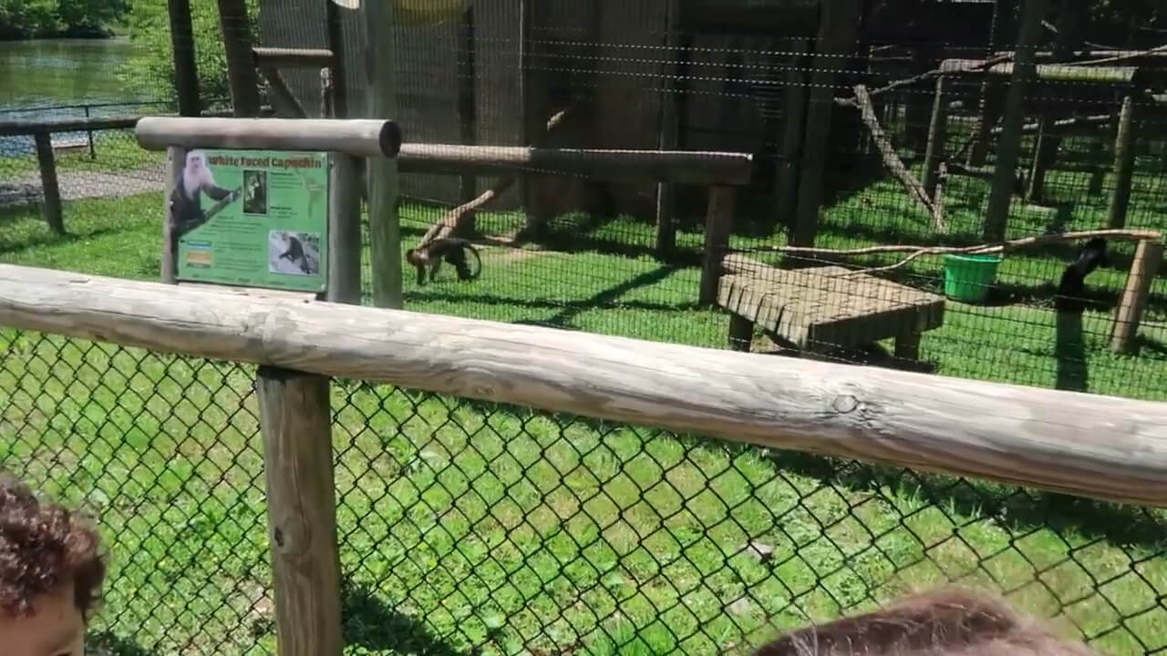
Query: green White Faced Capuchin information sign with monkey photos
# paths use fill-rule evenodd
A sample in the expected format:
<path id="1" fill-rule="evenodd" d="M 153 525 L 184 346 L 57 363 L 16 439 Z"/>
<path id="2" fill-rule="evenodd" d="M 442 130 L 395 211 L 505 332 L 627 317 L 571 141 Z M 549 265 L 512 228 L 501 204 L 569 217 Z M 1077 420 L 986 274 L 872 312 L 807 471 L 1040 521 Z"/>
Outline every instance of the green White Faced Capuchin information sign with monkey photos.
<path id="1" fill-rule="evenodd" d="M 170 196 L 179 280 L 324 291 L 327 154 L 193 149 L 183 163 Z"/>

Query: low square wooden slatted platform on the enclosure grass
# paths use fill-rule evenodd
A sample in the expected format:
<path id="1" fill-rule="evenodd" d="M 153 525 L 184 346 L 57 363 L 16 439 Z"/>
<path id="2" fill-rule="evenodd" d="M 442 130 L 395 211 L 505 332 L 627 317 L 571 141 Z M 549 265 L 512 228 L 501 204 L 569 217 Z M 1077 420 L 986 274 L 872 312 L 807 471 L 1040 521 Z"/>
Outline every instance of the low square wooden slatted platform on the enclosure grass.
<path id="1" fill-rule="evenodd" d="M 944 323 L 943 296 L 874 275 L 844 275 L 841 266 L 782 270 L 752 261 L 748 268 L 722 275 L 718 288 L 736 350 L 749 350 L 756 324 L 811 351 L 895 337 L 896 357 L 917 360 L 920 335 Z"/>

